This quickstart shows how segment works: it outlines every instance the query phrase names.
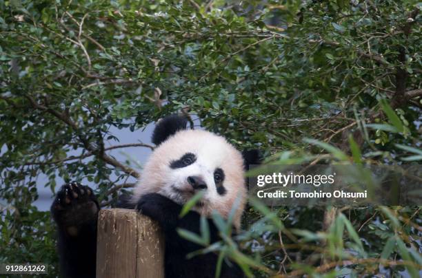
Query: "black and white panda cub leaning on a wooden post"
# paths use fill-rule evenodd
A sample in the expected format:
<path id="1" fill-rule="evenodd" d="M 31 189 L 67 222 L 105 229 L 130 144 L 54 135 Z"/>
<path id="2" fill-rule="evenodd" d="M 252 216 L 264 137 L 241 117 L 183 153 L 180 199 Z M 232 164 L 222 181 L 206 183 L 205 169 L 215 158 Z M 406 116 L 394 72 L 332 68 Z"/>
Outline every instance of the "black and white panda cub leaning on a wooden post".
<path id="1" fill-rule="evenodd" d="M 214 277 L 217 255 L 208 253 L 187 258 L 203 248 L 179 236 L 183 228 L 200 233 L 204 215 L 210 226 L 210 242 L 218 242 L 219 231 L 210 220 L 215 211 L 227 218 L 237 204 L 233 218 L 239 231 L 247 189 L 243 176 L 245 164 L 256 163 L 256 151 L 237 151 L 217 134 L 186 129 L 183 116 L 160 120 L 152 134 L 157 147 L 146 162 L 133 197 L 123 204 L 135 208 L 159 223 L 165 237 L 165 277 Z M 244 160 L 247 158 L 247 160 Z M 203 191 L 192 210 L 180 218 L 185 202 Z M 99 204 L 88 186 L 65 184 L 51 206 L 59 232 L 59 256 L 64 277 L 95 277 L 97 215 Z M 242 277 L 240 268 L 224 261 L 221 277 Z"/>

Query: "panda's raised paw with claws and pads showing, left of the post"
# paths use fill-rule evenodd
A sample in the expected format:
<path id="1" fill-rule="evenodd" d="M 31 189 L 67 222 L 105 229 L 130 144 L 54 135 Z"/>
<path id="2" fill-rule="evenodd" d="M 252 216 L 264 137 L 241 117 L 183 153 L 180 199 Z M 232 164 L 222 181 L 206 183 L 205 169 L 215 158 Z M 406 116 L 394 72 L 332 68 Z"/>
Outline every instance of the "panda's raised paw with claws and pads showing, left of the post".
<path id="1" fill-rule="evenodd" d="M 79 226 L 97 220 L 99 204 L 90 187 L 70 182 L 61 186 L 51 206 L 52 217 L 68 233 L 77 232 Z"/>

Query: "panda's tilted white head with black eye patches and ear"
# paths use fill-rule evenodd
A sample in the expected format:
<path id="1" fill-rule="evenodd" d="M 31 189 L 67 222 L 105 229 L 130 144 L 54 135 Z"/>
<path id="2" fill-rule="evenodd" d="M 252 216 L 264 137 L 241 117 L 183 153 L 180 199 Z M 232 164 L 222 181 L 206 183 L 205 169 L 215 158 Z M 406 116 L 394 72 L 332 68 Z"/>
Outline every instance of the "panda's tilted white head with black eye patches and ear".
<path id="1" fill-rule="evenodd" d="M 233 222 L 239 228 L 247 194 L 241 152 L 215 133 L 185 127 L 181 116 L 159 121 L 152 136 L 157 148 L 143 167 L 134 200 L 159 193 L 185 204 L 202 191 L 193 209 L 205 216 L 217 211 L 226 218 L 236 203 Z"/>

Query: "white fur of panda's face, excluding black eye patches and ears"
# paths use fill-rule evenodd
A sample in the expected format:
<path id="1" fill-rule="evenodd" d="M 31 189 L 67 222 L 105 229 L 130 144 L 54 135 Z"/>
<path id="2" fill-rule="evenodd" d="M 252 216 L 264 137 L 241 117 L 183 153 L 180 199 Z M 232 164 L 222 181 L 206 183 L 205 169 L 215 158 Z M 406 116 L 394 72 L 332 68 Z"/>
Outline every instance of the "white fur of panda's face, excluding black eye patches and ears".
<path id="1" fill-rule="evenodd" d="M 194 153 L 197 160 L 187 167 L 171 169 L 170 163 L 179 160 L 185 153 Z M 217 168 L 224 171 L 224 195 L 217 193 L 214 183 L 214 171 Z M 208 131 L 179 131 L 159 145 L 143 168 L 139 183 L 134 189 L 133 202 L 147 193 L 159 193 L 174 202 L 184 204 L 194 194 L 187 180 L 193 175 L 201 177 L 208 186 L 204 190 L 202 206 L 195 207 L 195 210 L 205 216 L 217 211 L 227 218 L 234 202 L 238 200 L 234 226 L 239 228 L 246 202 L 243 158 L 225 138 Z"/>

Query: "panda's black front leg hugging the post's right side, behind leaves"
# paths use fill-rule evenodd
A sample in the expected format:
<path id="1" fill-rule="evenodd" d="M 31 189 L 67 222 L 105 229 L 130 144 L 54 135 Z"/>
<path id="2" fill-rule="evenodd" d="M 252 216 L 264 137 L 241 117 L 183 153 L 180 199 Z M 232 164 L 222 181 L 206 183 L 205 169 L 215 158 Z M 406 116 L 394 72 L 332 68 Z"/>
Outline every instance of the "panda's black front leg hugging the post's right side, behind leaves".
<path id="1" fill-rule="evenodd" d="M 185 216 L 179 217 L 181 205 L 172 200 L 150 193 L 143 195 L 137 204 L 138 210 L 156 220 L 165 235 L 165 277 L 167 278 L 194 278 L 214 277 L 217 265 L 217 255 L 207 253 L 188 259 L 188 254 L 197 251 L 201 246 L 180 237 L 177 228 L 190 231 L 199 235 L 201 233 L 201 215 L 190 211 Z M 210 244 L 221 240 L 219 230 L 212 220 L 207 219 L 210 235 Z M 223 264 L 221 277 L 243 277 L 243 272 L 234 263 Z"/>

